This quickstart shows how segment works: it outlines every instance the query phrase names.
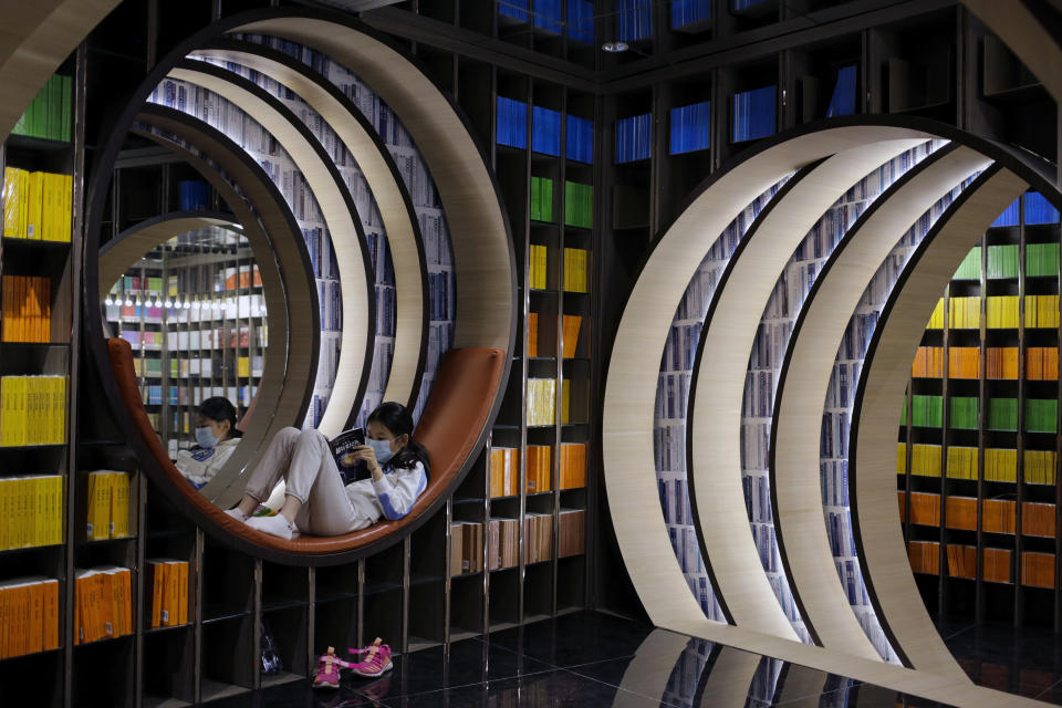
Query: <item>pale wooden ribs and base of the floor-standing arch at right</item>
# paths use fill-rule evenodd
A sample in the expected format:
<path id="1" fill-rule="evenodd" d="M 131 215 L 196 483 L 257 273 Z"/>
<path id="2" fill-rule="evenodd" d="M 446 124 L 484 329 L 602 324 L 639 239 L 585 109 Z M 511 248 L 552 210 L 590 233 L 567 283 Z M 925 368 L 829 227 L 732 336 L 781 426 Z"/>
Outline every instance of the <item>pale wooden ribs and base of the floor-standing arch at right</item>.
<path id="1" fill-rule="evenodd" d="M 741 409 L 749 352 L 793 249 L 850 186 L 930 138 L 952 146 L 924 160 L 851 228 L 815 281 L 794 330 L 772 424 L 772 501 L 779 551 L 816 646 L 795 642 L 763 571 L 741 486 Z M 910 362 L 937 296 L 975 236 L 1030 185 L 1062 195 L 1028 158 L 945 125 L 897 117 L 810 125 L 767 140 L 714 175 L 648 254 L 625 305 L 606 382 L 604 477 L 621 552 L 657 626 L 962 705 L 998 705 L 936 634 L 914 583 L 895 500 L 896 421 Z M 844 330 L 885 254 L 922 214 L 978 170 L 924 239 L 874 334 L 852 426 L 851 480 L 858 558 L 874 610 L 907 668 L 885 664 L 841 589 L 825 535 L 819 440 L 823 402 Z M 687 414 L 694 522 L 717 600 L 731 624 L 708 621 L 686 584 L 656 494 L 653 410 L 675 309 L 701 257 L 745 205 L 794 170 L 742 238 L 712 294 Z M 858 448 L 856 448 L 858 440 Z M 855 470 L 858 470 L 856 475 Z M 913 670 L 914 669 L 914 670 Z M 1019 701 L 1007 696 L 1007 700 Z M 1018 705 L 1018 702 L 1013 702 Z"/>

